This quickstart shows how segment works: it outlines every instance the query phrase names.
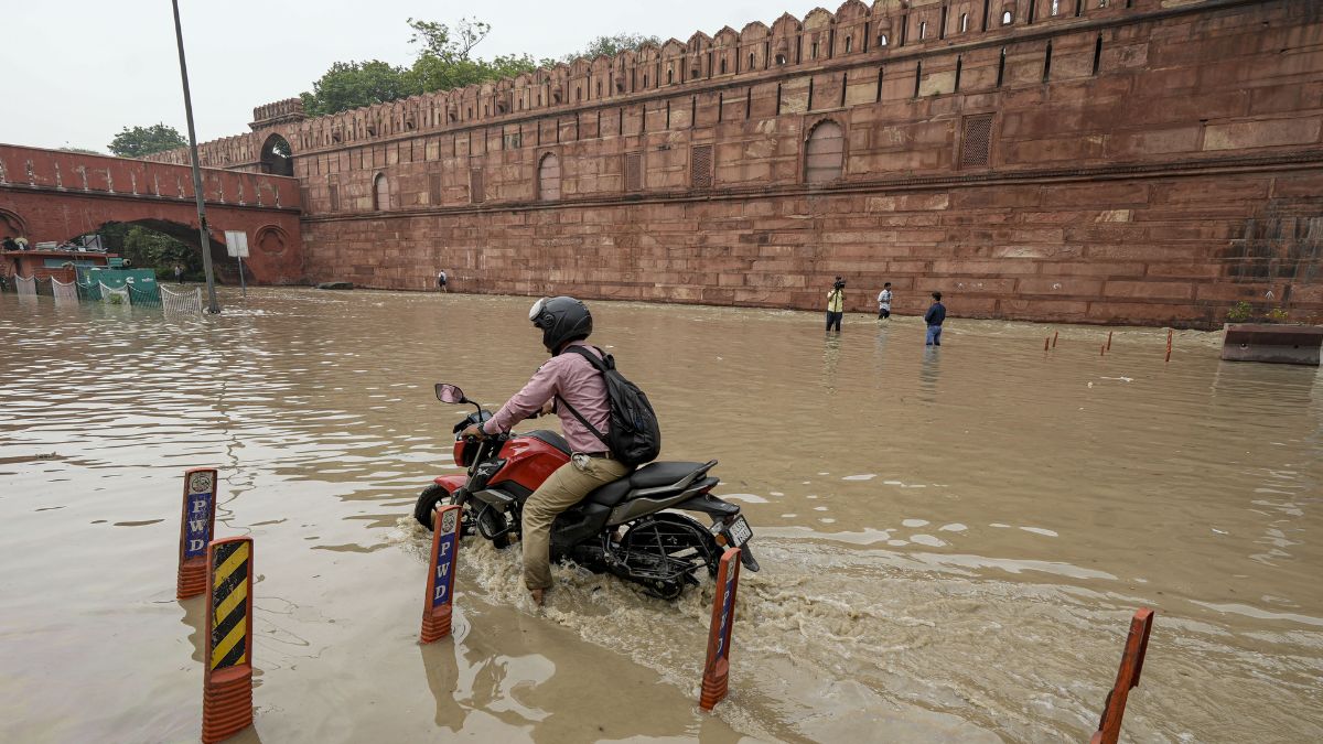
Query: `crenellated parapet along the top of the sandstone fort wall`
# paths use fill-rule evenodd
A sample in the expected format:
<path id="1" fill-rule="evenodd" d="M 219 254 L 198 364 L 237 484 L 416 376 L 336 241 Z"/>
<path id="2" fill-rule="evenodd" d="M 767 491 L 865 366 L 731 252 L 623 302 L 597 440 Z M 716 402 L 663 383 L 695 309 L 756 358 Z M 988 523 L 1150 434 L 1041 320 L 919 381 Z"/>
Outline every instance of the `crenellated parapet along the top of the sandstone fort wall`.
<path id="1" fill-rule="evenodd" d="M 1015 37 L 1170 7 L 1220 0 L 847 0 L 835 12 L 815 8 L 771 25 L 754 21 L 687 41 L 646 44 L 611 57 L 577 58 L 496 82 L 414 95 L 327 116 L 307 118 L 298 98 L 258 106 L 250 127 L 198 147 L 204 165 L 255 169 L 270 131 L 295 154 L 415 132 L 515 122 L 583 106 L 644 101 L 680 90 L 751 85 L 816 69 L 905 60 L 943 48 L 1012 42 Z M 187 150 L 152 156 L 187 163 Z"/>

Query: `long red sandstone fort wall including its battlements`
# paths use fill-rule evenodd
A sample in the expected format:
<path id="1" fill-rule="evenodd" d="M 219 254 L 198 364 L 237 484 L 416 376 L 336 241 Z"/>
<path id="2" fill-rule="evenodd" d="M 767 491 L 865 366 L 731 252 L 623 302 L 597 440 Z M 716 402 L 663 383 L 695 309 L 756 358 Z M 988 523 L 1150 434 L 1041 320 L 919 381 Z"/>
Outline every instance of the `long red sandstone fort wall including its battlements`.
<path id="1" fill-rule="evenodd" d="M 315 279 L 816 307 L 844 274 L 860 308 L 892 281 L 901 311 L 929 289 L 1044 320 L 1323 311 L 1323 3 L 992 0 L 986 30 L 983 5 L 851 1 L 208 152 L 290 140 Z M 810 185 L 819 124 L 841 172 Z"/>

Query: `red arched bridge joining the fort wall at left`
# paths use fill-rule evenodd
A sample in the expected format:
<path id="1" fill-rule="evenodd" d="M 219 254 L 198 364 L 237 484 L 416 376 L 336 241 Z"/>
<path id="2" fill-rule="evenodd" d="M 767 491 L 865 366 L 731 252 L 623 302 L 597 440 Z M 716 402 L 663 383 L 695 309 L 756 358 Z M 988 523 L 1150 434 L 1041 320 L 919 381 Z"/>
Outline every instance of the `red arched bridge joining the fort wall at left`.
<path id="1" fill-rule="evenodd" d="M 225 230 L 243 230 L 250 278 L 304 279 L 299 183 L 292 177 L 206 168 L 202 172 L 212 258 L 238 281 Z M 144 225 L 198 245 L 189 167 L 0 144 L 0 238 L 64 242 L 107 222 Z M 0 262 L 3 263 L 3 262 Z M 0 266 L 0 271 L 8 271 Z"/>

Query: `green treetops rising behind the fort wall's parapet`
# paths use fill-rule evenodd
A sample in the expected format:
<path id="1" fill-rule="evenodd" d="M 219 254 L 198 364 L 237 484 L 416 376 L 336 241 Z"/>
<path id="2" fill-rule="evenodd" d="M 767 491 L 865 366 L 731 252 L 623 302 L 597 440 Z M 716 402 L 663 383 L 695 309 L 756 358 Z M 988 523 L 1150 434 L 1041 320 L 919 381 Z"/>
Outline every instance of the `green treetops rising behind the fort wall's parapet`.
<path id="1" fill-rule="evenodd" d="M 312 83 L 311 93 L 302 94 L 303 110 L 310 116 L 339 114 L 421 93 L 454 90 L 511 78 L 558 62 L 558 60 L 533 60 L 528 54 L 501 54 L 491 60 L 476 57 L 474 48 L 492 30 L 491 24 L 478 19 L 460 19 L 454 26 L 409 19 L 409 28 L 413 29 L 409 44 L 418 49 L 418 57 L 411 66 L 392 66 L 378 60 L 336 62 Z M 590 41 L 583 52 L 569 54 L 564 61 L 610 56 L 626 49 L 638 49 L 647 42 L 660 44 L 660 40 L 638 33 L 599 36 Z"/>

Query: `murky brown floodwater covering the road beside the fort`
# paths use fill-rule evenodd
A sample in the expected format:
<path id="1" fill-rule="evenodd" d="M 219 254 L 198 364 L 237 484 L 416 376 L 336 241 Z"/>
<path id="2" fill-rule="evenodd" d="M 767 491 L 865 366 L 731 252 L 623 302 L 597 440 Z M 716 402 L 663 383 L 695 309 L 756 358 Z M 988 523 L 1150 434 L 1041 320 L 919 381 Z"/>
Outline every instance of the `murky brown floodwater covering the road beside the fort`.
<path id="1" fill-rule="evenodd" d="M 695 704 L 710 586 L 677 602 L 466 541 L 418 646 L 417 492 L 455 473 L 448 381 L 495 408 L 545 352 L 524 298 L 250 290 L 224 315 L 0 295 L 0 732 L 200 731 L 180 474 L 255 540 L 245 740 L 1086 740 L 1156 609 L 1129 741 L 1323 739 L 1315 368 L 1220 334 L 593 303 L 667 459 L 754 527 L 732 694 Z M 959 298 L 950 302 L 959 314 Z M 1043 339 L 1060 331 L 1052 352 Z"/>

